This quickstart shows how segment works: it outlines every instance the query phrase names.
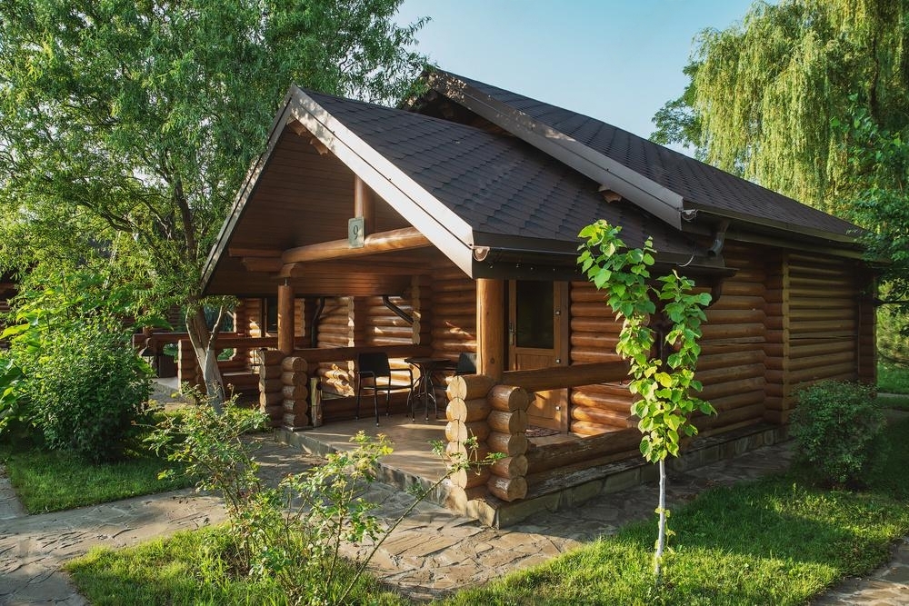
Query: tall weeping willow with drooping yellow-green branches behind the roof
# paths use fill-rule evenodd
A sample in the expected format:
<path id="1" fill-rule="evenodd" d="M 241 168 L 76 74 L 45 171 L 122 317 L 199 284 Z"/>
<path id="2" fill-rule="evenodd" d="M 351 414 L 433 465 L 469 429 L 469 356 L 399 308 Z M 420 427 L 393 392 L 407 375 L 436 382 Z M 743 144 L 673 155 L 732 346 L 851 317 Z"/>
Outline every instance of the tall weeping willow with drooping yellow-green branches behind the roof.
<path id="1" fill-rule="evenodd" d="M 907 0 L 756 3 L 740 23 L 698 36 L 688 87 L 654 116 L 652 137 L 844 214 L 854 192 L 832 119 L 850 119 L 855 95 L 881 127 L 906 124 L 907 51 Z"/>

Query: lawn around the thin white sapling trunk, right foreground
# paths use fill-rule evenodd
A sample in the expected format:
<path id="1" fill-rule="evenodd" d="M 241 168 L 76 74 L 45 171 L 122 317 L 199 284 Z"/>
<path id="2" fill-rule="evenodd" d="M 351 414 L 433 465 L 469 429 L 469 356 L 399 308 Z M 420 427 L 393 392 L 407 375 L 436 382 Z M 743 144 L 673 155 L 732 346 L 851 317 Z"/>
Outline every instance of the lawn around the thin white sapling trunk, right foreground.
<path id="1" fill-rule="evenodd" d="M 789 473 L 705 492 L 672 512 L 664 582 L 654 589 L 655 522 L 625 527 L 530 571 L 462 591 L 468 604 L 802 604 L 886 561 L 909 531 L 903 482 L 909 422 L 888 429 L 886 466 L 867 492 L 824 491 Z"/>

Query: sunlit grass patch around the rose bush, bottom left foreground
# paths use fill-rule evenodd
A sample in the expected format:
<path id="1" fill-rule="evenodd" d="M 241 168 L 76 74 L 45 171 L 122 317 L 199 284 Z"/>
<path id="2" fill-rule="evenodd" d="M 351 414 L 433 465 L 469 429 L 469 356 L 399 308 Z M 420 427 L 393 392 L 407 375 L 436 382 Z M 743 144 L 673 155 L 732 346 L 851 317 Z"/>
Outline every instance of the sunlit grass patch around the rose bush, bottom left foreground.
<path id="1" fill-rule="evenodd" d="M 112 551 L 98 549 L 65 565 L 80 593 L 92 604 L 286 604 L 269 581 L 233 578 L 214 557 L 225 541 L 225 527 L 180 532 L 165 540 Z M 302 580 L 301 582 L 305 582 Z M 363 577 L 346 603 L 409 603 Z"/>

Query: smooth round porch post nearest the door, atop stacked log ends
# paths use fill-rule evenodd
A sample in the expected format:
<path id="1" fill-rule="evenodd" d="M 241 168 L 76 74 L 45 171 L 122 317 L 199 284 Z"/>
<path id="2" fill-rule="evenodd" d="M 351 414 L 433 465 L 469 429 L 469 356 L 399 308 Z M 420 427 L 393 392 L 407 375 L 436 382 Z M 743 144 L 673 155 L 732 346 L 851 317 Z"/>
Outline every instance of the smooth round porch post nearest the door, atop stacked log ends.
<path id="1" fill-rule="evenodd" d="M 476 372 L 502 380 L 505 362 L 505 284 L 476 281 Z"/>

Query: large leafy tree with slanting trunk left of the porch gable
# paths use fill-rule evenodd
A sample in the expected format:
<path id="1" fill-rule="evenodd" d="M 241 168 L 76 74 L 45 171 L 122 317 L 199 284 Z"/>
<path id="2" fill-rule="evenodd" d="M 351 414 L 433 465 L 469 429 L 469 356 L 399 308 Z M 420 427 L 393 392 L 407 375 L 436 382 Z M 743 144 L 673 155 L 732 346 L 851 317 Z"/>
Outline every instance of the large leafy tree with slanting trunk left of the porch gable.
<path id="1" fill-rule="evenodd" d="M 399 97 L 401 0 L 0 3 L 0 265 L 94 265 L 178 303 L 219 379 L 201 267 L 292 83 Z M 219 381 L 217 381 L 218 387 Z"/>

